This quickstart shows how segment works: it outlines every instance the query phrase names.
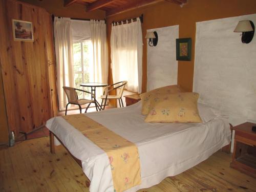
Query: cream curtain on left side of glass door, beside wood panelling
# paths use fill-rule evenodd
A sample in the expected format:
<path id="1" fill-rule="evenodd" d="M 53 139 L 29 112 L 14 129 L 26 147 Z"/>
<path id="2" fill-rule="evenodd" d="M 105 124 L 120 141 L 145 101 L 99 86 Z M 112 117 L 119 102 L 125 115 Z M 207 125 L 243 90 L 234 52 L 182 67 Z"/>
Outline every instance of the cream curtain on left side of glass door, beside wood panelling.
<path id="1" fill-rule="evenodd" d="M 70 18 L 54 18 L 56 73 L 59 110 L 64 110 L 67 97 L 63 86 L 74 87 L 73 45 Z"/>

